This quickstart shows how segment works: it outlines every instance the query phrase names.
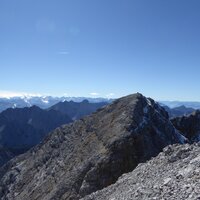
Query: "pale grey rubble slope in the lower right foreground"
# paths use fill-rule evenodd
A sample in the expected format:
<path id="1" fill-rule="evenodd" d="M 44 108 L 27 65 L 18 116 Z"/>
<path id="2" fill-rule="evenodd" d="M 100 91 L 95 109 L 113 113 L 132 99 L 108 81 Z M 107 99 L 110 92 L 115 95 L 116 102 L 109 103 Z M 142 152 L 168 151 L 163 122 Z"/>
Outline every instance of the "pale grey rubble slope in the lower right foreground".
<path id="1" fill-rule="evenodd" d="M 160 200 L 200 197 L 200 144 L 170 145 L 156 158 L 82 200 Z"/>

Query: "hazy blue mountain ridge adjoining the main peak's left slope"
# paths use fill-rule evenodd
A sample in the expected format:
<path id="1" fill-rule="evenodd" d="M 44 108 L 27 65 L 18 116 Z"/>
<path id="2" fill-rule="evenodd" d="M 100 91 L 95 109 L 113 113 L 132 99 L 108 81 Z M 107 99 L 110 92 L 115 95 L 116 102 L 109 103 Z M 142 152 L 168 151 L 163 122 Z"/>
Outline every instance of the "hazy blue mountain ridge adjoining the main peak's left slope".
<path id="1" fill-rule="evenodd" d="M 53 105 L 48 110 L 59 111 L 76 120 L 95 112 L 107 104 L 108 102 L 90 103 L 88 100 L 83 100 L 82 102 L 64 101 Z"/>

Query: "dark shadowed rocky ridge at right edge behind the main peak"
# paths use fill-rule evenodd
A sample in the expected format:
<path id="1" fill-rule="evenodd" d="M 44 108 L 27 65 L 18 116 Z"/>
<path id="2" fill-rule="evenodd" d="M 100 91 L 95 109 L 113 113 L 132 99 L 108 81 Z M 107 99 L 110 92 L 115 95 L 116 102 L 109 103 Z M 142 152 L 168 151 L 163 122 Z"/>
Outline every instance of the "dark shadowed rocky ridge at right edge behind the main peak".
<path id="1" fill-rule="evenodd" d="M 180 130 L 191 142 L 200 141 L 200 111 L 191 115 L 177 117 L 171 120 L 176 129 Z"/>

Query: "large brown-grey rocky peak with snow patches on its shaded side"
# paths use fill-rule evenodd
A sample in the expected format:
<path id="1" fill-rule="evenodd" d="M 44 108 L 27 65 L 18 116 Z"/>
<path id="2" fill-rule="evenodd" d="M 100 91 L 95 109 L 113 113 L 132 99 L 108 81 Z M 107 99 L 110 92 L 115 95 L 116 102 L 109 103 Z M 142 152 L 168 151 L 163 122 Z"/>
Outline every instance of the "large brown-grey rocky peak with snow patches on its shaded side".
<path id="1" fill-rule="evenodd" d="M 185 138 L 166 111 L 141 94 L 56 129 L 0 169 L 2 200 L 80 199 Z"/>

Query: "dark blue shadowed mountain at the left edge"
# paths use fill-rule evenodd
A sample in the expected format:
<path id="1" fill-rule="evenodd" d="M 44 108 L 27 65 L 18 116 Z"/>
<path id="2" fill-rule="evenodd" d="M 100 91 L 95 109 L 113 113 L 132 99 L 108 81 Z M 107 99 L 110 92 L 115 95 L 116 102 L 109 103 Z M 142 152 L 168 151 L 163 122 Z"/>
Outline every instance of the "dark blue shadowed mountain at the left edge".
<path id="1" fill-rule="evenodd" d="M 0 166 L 40 143 L 49 131 L 71 121 L 58 111 L 46 111 L 37 106 L 3 111 L 0 113 Z"/>

